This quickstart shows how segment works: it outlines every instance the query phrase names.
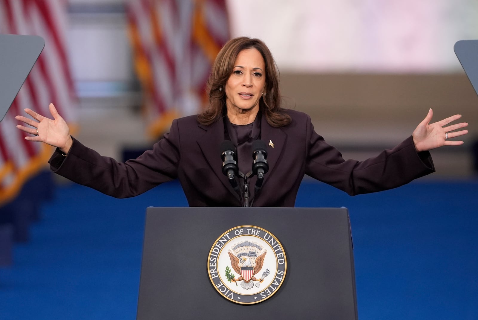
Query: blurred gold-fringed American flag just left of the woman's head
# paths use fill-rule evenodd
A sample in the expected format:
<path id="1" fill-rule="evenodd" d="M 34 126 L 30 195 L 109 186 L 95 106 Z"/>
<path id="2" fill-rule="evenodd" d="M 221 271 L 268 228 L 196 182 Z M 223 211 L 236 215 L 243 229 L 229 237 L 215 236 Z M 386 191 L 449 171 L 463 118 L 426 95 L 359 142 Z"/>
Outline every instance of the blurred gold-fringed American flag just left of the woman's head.
<path id="1" fill-rule="evenodd" d="M 225 0 L 128 0 L 134 65 L 152 137 L 207 103 L 206 80 L 229 39 Z"/>

